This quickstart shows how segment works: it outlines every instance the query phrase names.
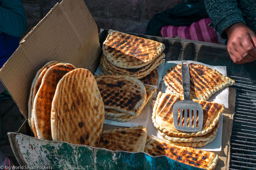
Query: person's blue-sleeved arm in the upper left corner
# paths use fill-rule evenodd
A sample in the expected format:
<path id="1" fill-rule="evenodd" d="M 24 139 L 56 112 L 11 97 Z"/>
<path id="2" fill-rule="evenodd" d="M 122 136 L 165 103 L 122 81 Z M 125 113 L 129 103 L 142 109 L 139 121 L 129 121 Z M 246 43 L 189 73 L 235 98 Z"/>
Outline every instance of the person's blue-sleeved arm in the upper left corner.
<path id="1" fill-rule="evenodd" d="M 0 32 L 20 37 L 27 20 L 21 0 L 0 0 Z"/>

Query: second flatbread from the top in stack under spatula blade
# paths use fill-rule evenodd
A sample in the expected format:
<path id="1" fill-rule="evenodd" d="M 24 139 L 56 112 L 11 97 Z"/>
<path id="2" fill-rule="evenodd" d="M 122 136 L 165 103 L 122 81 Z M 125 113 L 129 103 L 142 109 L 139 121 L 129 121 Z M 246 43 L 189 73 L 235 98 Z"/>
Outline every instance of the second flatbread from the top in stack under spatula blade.
<path id="1" fill-rule="evenodd" d="M 217 122 L 216 126 L 213 128 L 213 130 L 210 133 L 207 133 L 206 135 L 203 136 L 197 136 L 197 137 L 173 137 L 169 136 L 161 131 L 158 130 L 158 132 L 161 134 L 161 136 L 169 141 L 169 143 L 194 143 L 194 142 L 206 142 L 209 141 L 213 136 L 216 136 L 217 131 L 219 129 L 219 122 Z M 176 144 L 178 145 L 178 144 Z M 178 145 L 178 146 L 185 146 L 185 145 Z M 186 145 L 188 147 L 192 147 L 189 145 Z M 195 147 L 197 148 L 197 147 Z"/>

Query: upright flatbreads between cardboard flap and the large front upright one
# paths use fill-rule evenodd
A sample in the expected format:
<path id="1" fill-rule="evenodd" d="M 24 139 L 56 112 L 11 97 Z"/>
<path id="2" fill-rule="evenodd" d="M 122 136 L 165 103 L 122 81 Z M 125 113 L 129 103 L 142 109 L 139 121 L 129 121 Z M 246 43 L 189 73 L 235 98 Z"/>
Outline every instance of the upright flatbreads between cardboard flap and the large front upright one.
<path id="1" fill-rule="evenodd" d="M 28 123 L 35 137 L 52 139 L 50 133 L 52 98 L 58 81 L 75 68 L 72 64 L 51 61 L 37 71 L 28 101 Z"/>

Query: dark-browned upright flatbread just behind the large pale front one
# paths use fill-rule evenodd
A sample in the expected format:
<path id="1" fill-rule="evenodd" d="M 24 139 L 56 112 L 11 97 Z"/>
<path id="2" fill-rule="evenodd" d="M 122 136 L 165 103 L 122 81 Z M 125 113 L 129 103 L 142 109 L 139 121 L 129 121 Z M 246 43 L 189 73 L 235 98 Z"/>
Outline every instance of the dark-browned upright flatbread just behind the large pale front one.
<path id="1" fill-rule="evenodd" d="M 59 80 L 72 69 L 67 66 L 51 66 L 43 76 L 33 102 L 32 114 L 39 139 L 51 140 L 50 113 L 52 99 Z"/>

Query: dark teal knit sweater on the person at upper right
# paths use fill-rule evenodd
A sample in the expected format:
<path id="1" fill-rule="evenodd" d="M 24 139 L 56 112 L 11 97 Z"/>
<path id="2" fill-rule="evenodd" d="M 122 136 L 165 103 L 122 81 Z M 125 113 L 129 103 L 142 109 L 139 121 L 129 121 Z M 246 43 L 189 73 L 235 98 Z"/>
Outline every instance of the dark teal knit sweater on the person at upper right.
<path id="1" fill-rule="evenodd" d="M 256 0 L 204 0 L 206 11 L 221 37 L 225 29 L 243 22 L 256 34 Z"/>

